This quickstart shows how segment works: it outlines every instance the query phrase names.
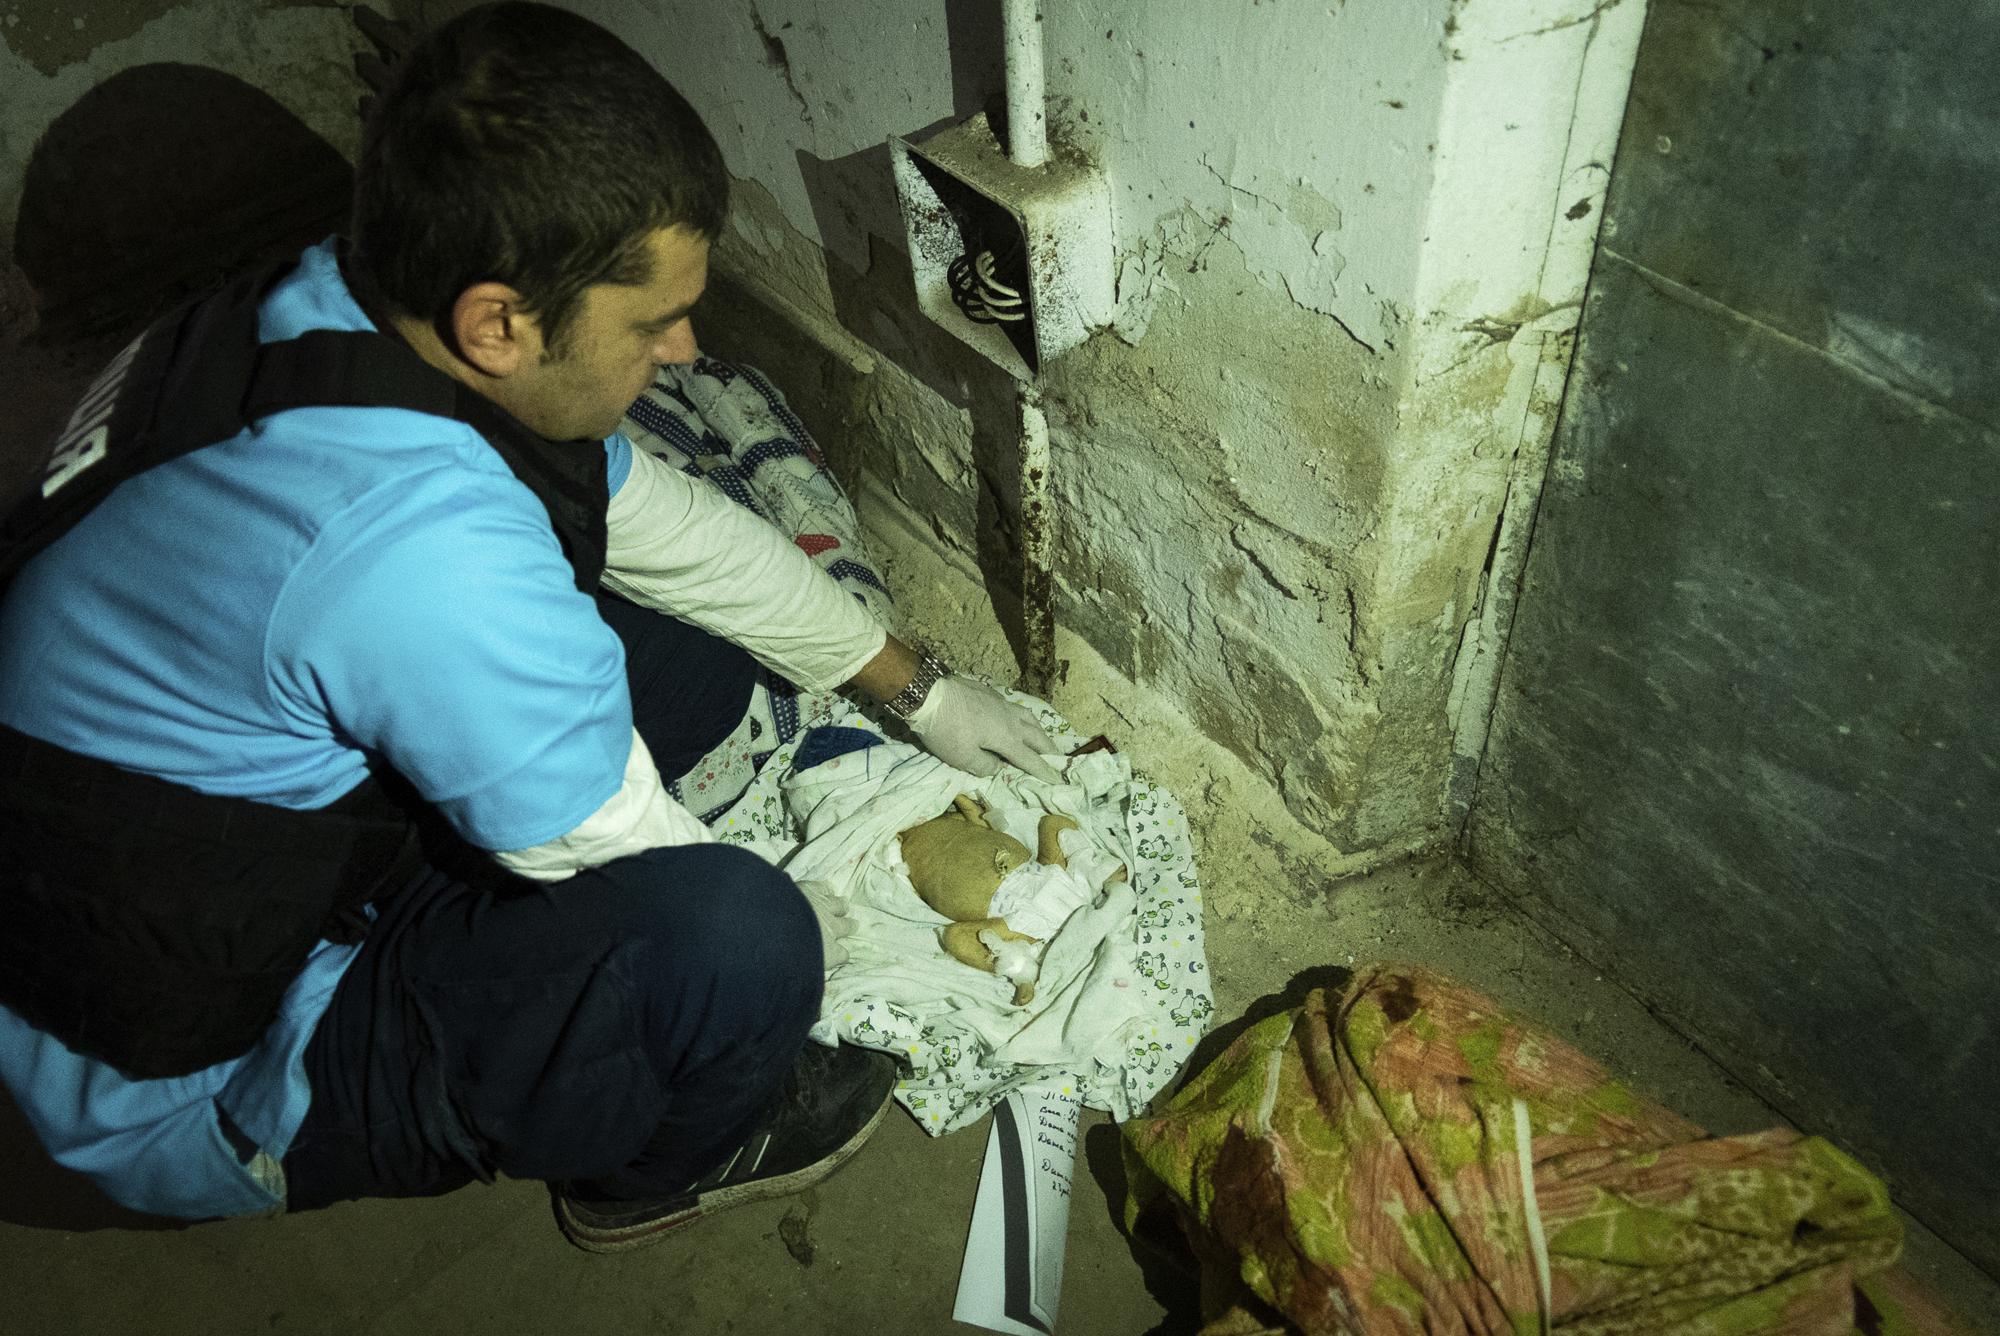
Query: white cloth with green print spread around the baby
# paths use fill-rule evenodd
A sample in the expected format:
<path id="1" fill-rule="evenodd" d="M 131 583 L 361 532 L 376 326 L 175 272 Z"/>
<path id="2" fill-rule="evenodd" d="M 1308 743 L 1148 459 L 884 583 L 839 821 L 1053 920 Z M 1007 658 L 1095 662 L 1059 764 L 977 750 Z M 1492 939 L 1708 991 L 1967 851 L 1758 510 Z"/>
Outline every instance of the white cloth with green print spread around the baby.
<path id="1" fill-rule="evenodd" d="M 1046 704 L 1016 700 L 1064 750 L 1082 742 Z M 870 728 L 838 698 L 812 722 Z M 1114 752 L 1072 758 L 1064 784 L 1018 772 L 976 780 L 896 742 L 792 774 L 794 752 L 796 742 L 770 756 L 714 830 L 784 864 L 822 922 L 838 924 L 844 952 L 830 954 L 816 1040 L 902 1058 L 908 1076 L 896 1098 L 932 1134 L 976 1122 L 1030 1080 L 1056 1080 L 1084 1104 L 1128 1118 L 1180 1070 L 1214 996 L 1194 848 L 1172 794 Z M 896 834 L 942 812 L 954 794 L 996 812 L 1074 816 L 1096 850 L 1130 868 L 1128 884 L 1112 884 L 1050 938 L 1026 1006 L 1012 1004 L 1006 980 L 944 954 L 944 920 L 900 872 Z"/>

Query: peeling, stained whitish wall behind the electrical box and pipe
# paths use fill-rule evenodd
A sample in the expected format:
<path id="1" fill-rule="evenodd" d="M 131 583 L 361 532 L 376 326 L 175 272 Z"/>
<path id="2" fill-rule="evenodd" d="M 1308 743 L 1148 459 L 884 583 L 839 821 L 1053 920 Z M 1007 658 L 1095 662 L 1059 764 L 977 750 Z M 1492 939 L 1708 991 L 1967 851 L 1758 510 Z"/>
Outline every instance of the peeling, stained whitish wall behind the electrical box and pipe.
<path id="1" fill-rule="evenodd" d="M 918 314 L 884 148 L 996 104 L 998 6 L 576 8 L 738 178 L 708 344 L 800 398 L 882 542 L 936 544 L 1006 608 L 1012 384 Z M 1044 376 L 1058 704 L 1192 720 L 1336 856 L 1440 836 L 1452 672 L 1546 438 L 1530 392 L 1570 356 L 1640 16 L 1048 6 L 1052 128 L 1108 172 L 1120 252 L 1114 330 Z"/>

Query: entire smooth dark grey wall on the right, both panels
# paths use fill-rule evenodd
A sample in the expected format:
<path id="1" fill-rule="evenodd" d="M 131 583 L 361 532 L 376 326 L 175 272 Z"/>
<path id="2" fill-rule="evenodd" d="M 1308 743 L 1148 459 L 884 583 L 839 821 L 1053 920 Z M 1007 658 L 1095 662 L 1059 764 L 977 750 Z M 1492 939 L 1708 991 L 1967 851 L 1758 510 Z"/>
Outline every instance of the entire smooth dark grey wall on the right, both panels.
<path id="1" fill-rule="evenodd" d="M 1996 48 L 1656 0 L 1470 844 L 1992 1272 Z"/>

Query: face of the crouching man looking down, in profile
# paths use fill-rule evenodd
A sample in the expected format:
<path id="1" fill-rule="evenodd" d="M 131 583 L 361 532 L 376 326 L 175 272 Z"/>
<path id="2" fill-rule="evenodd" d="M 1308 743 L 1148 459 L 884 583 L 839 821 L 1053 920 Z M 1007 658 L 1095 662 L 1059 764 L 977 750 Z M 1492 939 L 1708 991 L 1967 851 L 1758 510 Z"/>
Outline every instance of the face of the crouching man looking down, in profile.
<path id="1" fill-rule="evenodd" d="M 510 376 L 504 406 L 542 436 L 610 436 L 658 368 L 694 360 L 688 312 L 708 286 L 708 238 L 676 224 L 646 246 L 652 278 L 586 288 L 560 356 L 548 356 L 536 326 L 538 356 Z"/>

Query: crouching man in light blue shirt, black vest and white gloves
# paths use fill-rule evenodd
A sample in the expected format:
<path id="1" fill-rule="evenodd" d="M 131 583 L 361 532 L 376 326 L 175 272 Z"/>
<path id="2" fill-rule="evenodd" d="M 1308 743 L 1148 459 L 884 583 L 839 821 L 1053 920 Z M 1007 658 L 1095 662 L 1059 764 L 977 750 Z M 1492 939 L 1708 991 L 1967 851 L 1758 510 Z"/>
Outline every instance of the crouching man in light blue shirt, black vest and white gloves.
<path id="1" fill-rule="evenodd" d="M 510 1174 L 630 1248 L 882 1118 L 886 1058 L 804 1044 L 804 898 L 662 776 L 756 662 L 972 772 L 1050 744 L 616 434 L 694 358 L 726 188 L 608 32 L 472 10 L 376 106 L 350 236 L 156 324 L 14 510 L 0 1080 L 112 1198 Z"/>

